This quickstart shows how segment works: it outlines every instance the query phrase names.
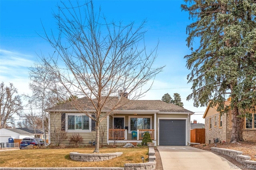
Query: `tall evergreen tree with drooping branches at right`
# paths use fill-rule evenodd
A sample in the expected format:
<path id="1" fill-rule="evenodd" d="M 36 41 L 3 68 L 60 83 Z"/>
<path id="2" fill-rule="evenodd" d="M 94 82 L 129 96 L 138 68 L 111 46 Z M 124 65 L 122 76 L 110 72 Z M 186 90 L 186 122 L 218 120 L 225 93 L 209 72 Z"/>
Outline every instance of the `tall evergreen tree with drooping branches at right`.
<path id="1" fill-rule="evenodd" d="M 194 106 L 217 106 L 218 111 L 231 97 L 231 141 L 242 141 L 244 116 L 256 105 L 256 2 L 255 0 L 185 0 L 182 10 L 195 22 L 187 26 L 185 56 L 191 70 Z M 193 51 L 193 42 L 200 43 Z"/>

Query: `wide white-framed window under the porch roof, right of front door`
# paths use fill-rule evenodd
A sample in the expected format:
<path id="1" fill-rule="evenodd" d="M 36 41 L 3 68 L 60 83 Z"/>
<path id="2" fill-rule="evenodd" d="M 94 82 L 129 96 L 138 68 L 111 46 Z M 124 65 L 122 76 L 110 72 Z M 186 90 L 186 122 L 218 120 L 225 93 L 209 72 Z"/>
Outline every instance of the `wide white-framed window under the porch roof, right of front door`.
<path id="1" fill-rule="evenodd" d="M 129 132 L 137 131 L 138 129 L 151 129 L 152 117 L 129 117 Z"/>

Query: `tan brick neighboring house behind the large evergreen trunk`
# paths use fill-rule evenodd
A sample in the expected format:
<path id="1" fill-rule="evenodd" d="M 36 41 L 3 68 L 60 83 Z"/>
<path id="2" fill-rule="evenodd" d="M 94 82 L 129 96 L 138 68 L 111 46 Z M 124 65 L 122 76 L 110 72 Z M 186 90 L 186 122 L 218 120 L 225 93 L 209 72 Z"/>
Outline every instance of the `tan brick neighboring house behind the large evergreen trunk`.
<path id="1" fill-rule="evenodd" d="M 230 101 L 225 101 L 228 107 Z M 205 142 L 214 142 L 214 138 L 219 141 L 230 142 L 232 133 L 232 114 L 228 113 L 220 115 L 217 107 L 206 108 L 203 118 L 205 119 Z M 256 113 L 251 113 L 250 118 L 244 118 L 243 138 L 248 141 L 256 141 Z"/>

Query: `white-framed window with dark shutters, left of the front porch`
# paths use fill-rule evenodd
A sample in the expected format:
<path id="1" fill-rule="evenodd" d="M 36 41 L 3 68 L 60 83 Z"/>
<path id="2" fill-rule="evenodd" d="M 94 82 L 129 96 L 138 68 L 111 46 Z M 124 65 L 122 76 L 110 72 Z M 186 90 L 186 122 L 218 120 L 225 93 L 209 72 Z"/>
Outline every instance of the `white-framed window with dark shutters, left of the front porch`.
<path id="1" fill-rule="evenodd" d="M 67 131 L 74 132 L 76 130 L 90 131 L 91 119 L 86 115 L 81 114 L 66 114 L 66 128 Z"/>

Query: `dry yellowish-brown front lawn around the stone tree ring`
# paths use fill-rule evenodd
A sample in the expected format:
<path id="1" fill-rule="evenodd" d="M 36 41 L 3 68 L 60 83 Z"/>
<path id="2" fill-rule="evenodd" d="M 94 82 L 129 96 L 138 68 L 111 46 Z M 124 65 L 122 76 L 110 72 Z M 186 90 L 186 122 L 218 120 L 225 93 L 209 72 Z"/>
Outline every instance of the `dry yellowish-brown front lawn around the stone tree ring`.
<path id="1" fill-rule="evenodd" d="M 125 163 L 142 163 L 148 160 L 148 147 L 100 148 L 100 153 L 123 152 L 112 160 L 100 162 L 77 162 L 71 160 L 70 152 L 92 153 L 94 148 L 29 149 L 0 152 L 0 167 L 124 167 Z"/>

